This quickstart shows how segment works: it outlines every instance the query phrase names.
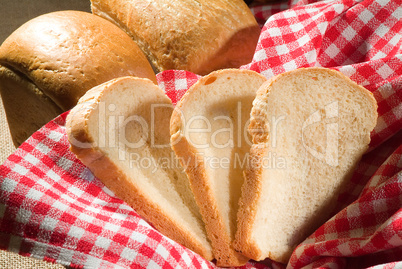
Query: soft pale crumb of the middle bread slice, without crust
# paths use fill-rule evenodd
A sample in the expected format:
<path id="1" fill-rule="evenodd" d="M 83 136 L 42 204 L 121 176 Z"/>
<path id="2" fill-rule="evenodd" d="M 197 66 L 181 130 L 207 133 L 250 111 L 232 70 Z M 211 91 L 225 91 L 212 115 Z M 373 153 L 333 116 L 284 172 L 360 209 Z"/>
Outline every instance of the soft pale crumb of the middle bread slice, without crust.
<path id="1" fill-rule="evenodd" d="M 197 149 L 203 160 L 218 210 L 223 216 L 226 229 L 233 236 L 236 230 L 237 200 L 243 183 L 241 161 L 250 147 L 243 131 L 255 92 L 249 91 L 247 94 L 241 87 L 243 85 L 237 86 L 236 82 L 239 83 L 241 78 L 230 79 L 235 85 L 228 86 L 225 78 L 219 78 L 209 87 L 194 91 L 182 111 L 188 119 L 189 129 L 184 130 L 188 131 L 186 139 Z M 255 89 L 258 87 L 254 86 Z M 196 131 L 192 132 L 191 129 Z M 247 135 L 246 138 L 249 140 Z"/>

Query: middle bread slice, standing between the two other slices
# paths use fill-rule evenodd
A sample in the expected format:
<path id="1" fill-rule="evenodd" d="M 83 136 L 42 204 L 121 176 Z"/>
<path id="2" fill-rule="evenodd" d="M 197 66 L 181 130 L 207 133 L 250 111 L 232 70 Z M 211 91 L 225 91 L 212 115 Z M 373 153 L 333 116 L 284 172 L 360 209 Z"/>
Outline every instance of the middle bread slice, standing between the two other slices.
<path id="1" fill-rule="evenodd" d="M 248 70 L 212 72 L 186 92 L 172 114 L 172 147 L 190 179 L 218 266 L 248 260 L 233 249 L 232 241 L 242 164 L 251 145 L 244 126 L 265 81 Z"/>

